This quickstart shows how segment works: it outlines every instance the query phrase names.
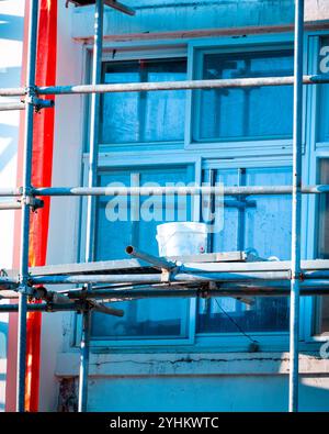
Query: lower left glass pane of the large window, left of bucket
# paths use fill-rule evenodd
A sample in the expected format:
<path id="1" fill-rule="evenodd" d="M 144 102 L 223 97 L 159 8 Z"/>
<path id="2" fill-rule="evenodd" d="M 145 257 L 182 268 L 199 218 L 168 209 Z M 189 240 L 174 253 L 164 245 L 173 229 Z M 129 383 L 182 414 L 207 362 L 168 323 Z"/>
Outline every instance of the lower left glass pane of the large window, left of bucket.
<path id="1" fill-rule="evenodd" d="M 138 168 L 136 170 L 116 169 L 104 173 L 100 176 L 100 185 L 109 186 L 112 182 L 122 182 L 128 187 L 147 186 L 157 183 L 159 186 L 174 185 L 177 182 L 191 181 L 192 167 L 158 167 Z M 170 212 L 163 212 L 163 200 L 161 197 L 139 198 L 140 221 L 132 221 L 134 200 L 123 201 L 116 207 L 121 207 L 125 221 L 111 221 L 109 214 L 109 203 L 113 197 L 99 198 L 99 212 L 97 220 L 97 259 L 121 259 L 127 258 L 125 247 L 133 244 L 138 249 L 158 255 L 156 241 L 157 225 L 166 221 L 177 220 L 179 209 L 184 207 L 184 202 L 171 198 L 167 201 Z M 182 204 L 183 203 L 183 204 Z M 186 201 L 186 216 L 191 218 L 191 203 Z M 143 214 L 141 214 L 143 213 Z M 135 220 L 136 220 L 136 214 Z M 110 218 L 110 220 L 109 220 Z M 149 221 L 145 221 L 148 219 Z M 154 219 L 154 220 L 150 220 Z M 182 299 L 144 299 L 137 301 L 116 302 L 115 308 L 123 309 L 125 315 L 122 319 L 94 313 L 92 320 L 93 338 L 111 340 L 133 340 L 139 337 L 186 337 L 188 318 L 190 302 Z"/>

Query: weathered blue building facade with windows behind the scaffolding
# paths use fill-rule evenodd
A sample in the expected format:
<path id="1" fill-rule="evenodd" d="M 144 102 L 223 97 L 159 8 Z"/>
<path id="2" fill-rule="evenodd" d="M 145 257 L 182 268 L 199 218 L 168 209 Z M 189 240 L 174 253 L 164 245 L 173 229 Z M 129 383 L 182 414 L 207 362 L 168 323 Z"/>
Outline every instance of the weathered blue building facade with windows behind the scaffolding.
<path id="1" fill-rule="evenodd" d="M 3 3 L 23 9 L 19 1 Z M 93 8 L 66 9 L 63 3 L 58 2 L 57 84 L 89 82 Z M 294 1 L 126 3 L 136 9 L 135 16 L 110 9 L 104 13 L 102 82 L 293 75 Z M 325 0 L 306 1 L 305 74 L 329 71 L 328 20 Z M 328 183 L 328 89 L 305 87 L 305 185 Z M 87 185 L 88 97 L 57 97 L 55 110 L 53 186 Z M 99 116 L 100 186 L 292 183 L 290 86 L 109 93 L 101 97 Z M 7 134 L 15 143 L 16 131 L 9 133 L 0 125 L 3 143 Z M 0 166 L 0 176 L 8 170 L 14 182 L 15 164 L 10 162 Z M 156 226 L 164 216 L 111 222 L 107 203 L 106 197 L 98 200 L 95 259 L 125 258 L 127 245 L 157 254 Z M 160 209 L 160 199 L 158 204 Z M 133 204 L 125 208 L 131 215 Z M 174 198 L 171 208 L 177 211 Z M 202 203 L 191 209 L 202 220 Z M 303 198 L 303 258 L 328 258 L 327 213 L 326 196 Z M 83 260 L 84 215 L 84 200 L 52 199 L 47 264 Z M 1 227 L 1 237 L 4 234 L 12 234 L 5 241 L 10 247 L 13 229 Z M 211 248 L 290 259 L 291 198 L 247 197 L 238 205 L 228 198 L 224 229 L 212 235 Z M 0 267 L 10 267 L 3 251 L 1 255 Z M 125 311 L 123 319 L 93 314 L 90 411 L 287 409 L 288 299 L 259 298 L 252 305 L 225 298 L 116 304 Z M 328 411 L 328 301 L 303 298 L 300 311 L 300 409 Z M 2 335 L 8 336 L 5 325 Z M 43 315 L 41 410 L 75 408 L 80 335 L 80 315 Z"/>

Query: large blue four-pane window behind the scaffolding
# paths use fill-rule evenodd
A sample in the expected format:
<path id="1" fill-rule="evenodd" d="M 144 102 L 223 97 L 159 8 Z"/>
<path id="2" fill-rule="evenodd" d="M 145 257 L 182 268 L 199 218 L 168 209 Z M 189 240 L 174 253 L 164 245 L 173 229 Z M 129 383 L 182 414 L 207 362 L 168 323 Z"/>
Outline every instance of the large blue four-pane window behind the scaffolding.
<path id="1" fill-rule="evenodd" d="M 290 48 L 279 49 L 272 46 L 265 52 L 257 45 L 253 52 L 248 48 L 245 52 L 240 49 L 225 54 L 211 48 L 197 51 L 193 58 L 194 69 L 198 68 L 195 78 L 293 75 L 293 52 Z M 184 79 L 186 59 L 182 57 L 103 64 L 103 82 Z M 106 147 L 106 153 L 110 153 L 109 166 L 102 166 L 99 170 L 100 186 L 112 182 L 123 186 L 145 186 L 149 182 L 161 186 L 168 182 L 186 185 L 195 179 L 211 185 L 223 182 L 224 186 L 292 183 L 291 162 L 282 159 L 277 146 L 273 146 L 273 160 L 269 157 L 263 160 L 262 155 L 258 154 L 251 163 L 250 157 L 245 157 L 245 144 L 240 143 L 240 149 L 237 147 L 231 158 L 231 155 L 220 152 L 219 143 L 292 137 L 291 86 L 225 91 L 195 90 L 192 100 L 186 100 L 189 103 L 192 101 L 192 116 L 186 116 L 188 125 L 184 125 L 185 93 L 184 90 L 152 91 L 107 93 L 102 97 L 101 143 L 113 145 L 113 151 L 115 145 L 123 146 L 122 153 L 116 153 L 115 162 L 111 160 L 114 152 L 111 154 L 111 149 Z M 172 146 L 169 154 L 162 146 L 161 151 L 162 144 L 182 142 L 184 131 L 191 131 L 194 141 L 213 142 L 212 149 L 205 153 L 201 146 L 189 151 Z M 132 151 L 135 144 L 147 145 L 139 147 L 138 157 L 125 152 Z M 194 163 L 186 163 L 191 160 Z M 109 202 L 113 199 L 117 198 L 98 198 L 95 259 L 127 258 L 125 247 L 131 244 L 157 255 L 156 226 L 163 221 L 178 220 L 180 204 L 177 198 L 173 197 L 171 201 L 174 211 L 171 219 L 162 213 L 149 221 L 132 218 L 136 207 L 140 210 L 149 198 L 140 198 L 139 204 L 136 204 L 134 198 L 123 198 L 123 203 L 117 203 L 117 208 L 122 205 L 126 213 L 124 220 L 109 218 Z M 163 210 L 163 198 L 154 199 L 150 214 Z M 186 209 L 191 214 L 186 220 L 191 220 L 194 211 L 207 215 L 200 207 L 193 209 L 191 202 L 192 199 L 188 198 Z M 225 197 L 224 204 L 224 230 L 209 237 L 209 252 L 250 249 L 260 258 L 290 259 L 290 196 Z M 129 346 L 143 342 L 191 344 L 194 338 L 196 345 L 207 345 L 211 341 L 215 342 L 213 340 L 218 343 L 217 337 L 227 340 L 228 334 L 238 336 L 241 330 L 250 334 L 283 334 L 288 330 L 290 312 L 285 297 L 256 298 L 250 304 L 232 298 L 144 299 L 116 302 L 115 307 L 125 311 L 123 319 L 93 313 L 91 334 L 92 340 L 98 342 L 97 345 Z"/>

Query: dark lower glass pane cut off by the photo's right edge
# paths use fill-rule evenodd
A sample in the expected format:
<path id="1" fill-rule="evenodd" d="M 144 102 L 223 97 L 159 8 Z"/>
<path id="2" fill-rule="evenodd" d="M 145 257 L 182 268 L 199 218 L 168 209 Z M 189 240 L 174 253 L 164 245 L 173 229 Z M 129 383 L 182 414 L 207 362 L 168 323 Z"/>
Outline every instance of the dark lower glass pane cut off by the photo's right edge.
<path id="1" fill-rule="evenodd" d="M 329 183 L 329 159 L 321 158 L 320 183 Z M 329 194 L 318 198 L 318 252 L 317 258 L 329 259 Z M 315 297 L 315 334 L 329 335 L 329 297 Z"/>

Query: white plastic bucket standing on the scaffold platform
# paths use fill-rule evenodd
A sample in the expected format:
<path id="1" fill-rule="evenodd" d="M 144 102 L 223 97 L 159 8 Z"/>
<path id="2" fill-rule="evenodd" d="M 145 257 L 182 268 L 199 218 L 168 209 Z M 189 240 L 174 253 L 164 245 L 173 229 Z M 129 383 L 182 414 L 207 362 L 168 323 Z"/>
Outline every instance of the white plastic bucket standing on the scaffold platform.
<path id="1" fill-rule="evenodd" d="M 160 256 L 197 255 L 207 249 L 205 223 L 163 223 L 157 226 L 157 232 Z"/>

